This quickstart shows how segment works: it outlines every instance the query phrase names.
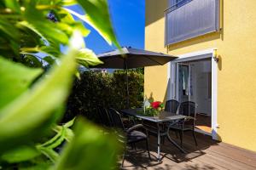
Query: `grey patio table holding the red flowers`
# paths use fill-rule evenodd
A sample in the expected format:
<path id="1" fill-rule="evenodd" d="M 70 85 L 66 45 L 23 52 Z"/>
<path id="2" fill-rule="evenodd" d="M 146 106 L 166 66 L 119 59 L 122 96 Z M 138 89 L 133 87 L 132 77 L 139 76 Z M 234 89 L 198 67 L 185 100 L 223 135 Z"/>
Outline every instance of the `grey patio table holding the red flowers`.
<path id="1" fill-rule="evenodd" d="M 142 108 L 137 109 L 125 109 L 121 110 L 121 112 L 126 116 L 135 116 L 137 118 L 140 118 L 142 120 L 146 120 L 148 122 L 154 122 L 157 125 L 157 159 L 158 161 L 161 160 L 160 157 L 160 136 L 166 135 L 167 139 L 177 147 L 178 150 L 181 150 L 183 153 L 186 153 L 185 150 L 183 150 L 182 147 L 180 147 L 169 135 L 170 127 L 176 123 L 177 120 L 182 120 L 186 118 L 191 118 L 189 116 L 183 116 L 183 115 L 177 115 L 176 113 L 168 112 L 168 111 L 160 111 L 159 116 L 142 116 L 137 113 L 137 111 L 142 111 Z M 168 122 L 168 128 L 166 129 L 166 132 L 161 133 L 160 132 L 160 123 Z"/>

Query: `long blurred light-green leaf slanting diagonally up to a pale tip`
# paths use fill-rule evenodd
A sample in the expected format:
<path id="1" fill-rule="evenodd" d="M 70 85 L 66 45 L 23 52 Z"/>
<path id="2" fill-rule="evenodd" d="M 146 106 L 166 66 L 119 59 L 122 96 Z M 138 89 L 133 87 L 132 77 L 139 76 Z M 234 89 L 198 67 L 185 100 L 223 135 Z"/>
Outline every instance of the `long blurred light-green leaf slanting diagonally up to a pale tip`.
<path id="1" fill-rule="evenodd" d="M 52 113 L 67 98 L 77 54 L 71 49 L 62 57 L 60 66 L 54 65 L 47 77 L 0 110 L 0 153 L 36 139 L 49 128 L 46 122 L 52 120 Z"/>

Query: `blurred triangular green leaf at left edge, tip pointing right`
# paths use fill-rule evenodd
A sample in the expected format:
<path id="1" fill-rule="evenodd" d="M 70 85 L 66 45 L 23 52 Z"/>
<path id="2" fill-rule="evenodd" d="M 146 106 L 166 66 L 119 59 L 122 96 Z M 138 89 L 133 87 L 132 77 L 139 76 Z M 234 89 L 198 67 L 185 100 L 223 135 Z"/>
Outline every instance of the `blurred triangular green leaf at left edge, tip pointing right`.
<path id="1" fill-rule="evenodd" d="M 41 69 L 32 69 L 0 57 L 0 110 L 26 91 Z"/>

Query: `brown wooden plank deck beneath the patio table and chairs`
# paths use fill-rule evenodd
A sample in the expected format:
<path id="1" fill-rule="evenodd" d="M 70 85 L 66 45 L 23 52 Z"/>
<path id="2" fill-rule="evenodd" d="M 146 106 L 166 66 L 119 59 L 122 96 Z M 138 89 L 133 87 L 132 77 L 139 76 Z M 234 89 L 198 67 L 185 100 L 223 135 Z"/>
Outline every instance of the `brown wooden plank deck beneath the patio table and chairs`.
<path id="1" fill-rule="evenodd" d="M 195 146 L 191 133 L 184 135 L 184 149 L 187 154 L 181 153 L 166 140 L 162 145 L 162 156 L 160 163 L 156 161 L 156 138 L 150 136 L 150 154 L 152 161 L 149 161 L 145 151 L 145 144 L 137 144 L 137 150 L 129 150 L 125 157 L 125 164 L 122 169 L 156 169 L 156 170 L 216 170 L 216 169 L 256 169 L 256 153 L 244 150 L 230 144 L 214 141 L 211 137 L 197 134 L 198 146 Z M 175 135 L 172 135 L 176 139 Z M 178 139 L 176 139 L 179 142 Z"/>

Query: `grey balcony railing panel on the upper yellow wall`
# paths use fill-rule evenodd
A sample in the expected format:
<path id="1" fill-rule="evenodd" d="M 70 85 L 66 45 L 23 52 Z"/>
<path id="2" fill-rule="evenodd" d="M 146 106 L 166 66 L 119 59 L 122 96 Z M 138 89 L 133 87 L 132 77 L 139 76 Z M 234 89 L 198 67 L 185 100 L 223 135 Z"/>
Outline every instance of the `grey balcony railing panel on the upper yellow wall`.
<path id="1" fill-rule="evenodd" d="M 166 9 L 166 45 L 219 31 L 219 0 L 186 0 Z"/>

